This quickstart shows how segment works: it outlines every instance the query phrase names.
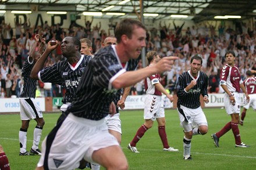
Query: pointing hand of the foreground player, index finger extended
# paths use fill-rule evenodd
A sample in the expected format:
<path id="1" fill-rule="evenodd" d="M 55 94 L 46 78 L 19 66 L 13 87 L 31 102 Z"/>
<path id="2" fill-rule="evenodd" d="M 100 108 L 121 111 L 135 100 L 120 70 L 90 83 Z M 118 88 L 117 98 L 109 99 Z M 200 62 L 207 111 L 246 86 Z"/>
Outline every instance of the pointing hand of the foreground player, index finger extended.
<path id="1" fill-rule="evenodd" d="M 169 56 L 163 57 L 155 66 L 157 67 L 157 73 L 163 73 L 172 69 L 173 60 L 177 60 L 179 57 Z"/>

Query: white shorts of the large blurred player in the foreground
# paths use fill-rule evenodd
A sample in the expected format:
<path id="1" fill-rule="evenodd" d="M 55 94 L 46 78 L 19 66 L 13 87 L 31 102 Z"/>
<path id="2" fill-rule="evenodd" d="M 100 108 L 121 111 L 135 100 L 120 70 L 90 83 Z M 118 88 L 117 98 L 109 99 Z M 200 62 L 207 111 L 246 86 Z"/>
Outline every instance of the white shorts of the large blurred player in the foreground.
<path id="1" fill-rule="evenodd" d="M 119 146 L 116 138 L 108 132 L 105 118 L 93 121 L 69 113 L 61 126 L 56 128 L 58 125 L 42 142 L 42 155 L 37 167 L 42 167 L 44 159 L 48 158 L 49 169 L 75 169 L 82 159 L 93 162 L 94 151 Z"/>

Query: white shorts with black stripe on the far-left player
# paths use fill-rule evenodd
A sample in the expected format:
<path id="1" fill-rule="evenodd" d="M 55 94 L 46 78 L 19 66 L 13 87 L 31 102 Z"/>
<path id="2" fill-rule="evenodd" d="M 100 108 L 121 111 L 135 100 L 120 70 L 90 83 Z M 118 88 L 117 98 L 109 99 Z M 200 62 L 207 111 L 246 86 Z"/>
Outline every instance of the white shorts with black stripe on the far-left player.
<path id="1" fill-rule="evenodd" d="M 42 110 L 34 98 L 20 98 L 20 119 L 34 120 L 42 118 Z"/>

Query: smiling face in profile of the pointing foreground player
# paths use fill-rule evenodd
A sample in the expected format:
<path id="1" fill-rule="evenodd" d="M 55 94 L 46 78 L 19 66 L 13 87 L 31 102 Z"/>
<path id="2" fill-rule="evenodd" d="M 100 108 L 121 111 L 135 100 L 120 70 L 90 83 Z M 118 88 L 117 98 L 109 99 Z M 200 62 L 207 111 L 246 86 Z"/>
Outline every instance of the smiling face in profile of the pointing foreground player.
<path id="1" fill-rule="evenodd" d="M 134 27 L 131 39 L 127 38 L 127 53 L 131 59 L 137 59 L 145 44 L 146 31 L 143 28 Z"/>

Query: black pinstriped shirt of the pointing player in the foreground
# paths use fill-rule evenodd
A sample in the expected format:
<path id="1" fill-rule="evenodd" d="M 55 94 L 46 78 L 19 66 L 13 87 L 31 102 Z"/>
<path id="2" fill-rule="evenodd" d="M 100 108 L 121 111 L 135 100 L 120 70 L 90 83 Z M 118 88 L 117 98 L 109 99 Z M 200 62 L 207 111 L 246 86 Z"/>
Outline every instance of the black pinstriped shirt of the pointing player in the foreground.
<path id="1" fill-rule="evenodd" d="M 115 98 L 117 89 L 112 82 L 125 73 L 129 62 L 123 68 L 116 55 L 115 46 L 100 49 L 91 59 L 77 88 L 76 97 L 67 113 L 89 120 L 101 120 L 109 114 L 109 105 Z"/>

